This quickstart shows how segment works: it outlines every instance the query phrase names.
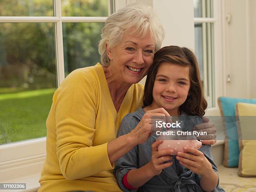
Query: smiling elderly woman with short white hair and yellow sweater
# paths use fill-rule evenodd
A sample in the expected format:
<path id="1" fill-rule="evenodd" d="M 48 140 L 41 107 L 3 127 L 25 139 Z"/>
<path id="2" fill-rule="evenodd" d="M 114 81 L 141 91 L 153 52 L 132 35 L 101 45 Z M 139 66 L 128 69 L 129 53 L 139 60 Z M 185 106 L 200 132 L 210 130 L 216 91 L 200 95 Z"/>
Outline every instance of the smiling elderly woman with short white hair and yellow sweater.
<path id="1" fill-rule="evenodd" d="M 114 162 L 146 141 L 152 116 L 169 116 L 163 108 L 148 111 L 133 131 L 116 138 L 122 118 L 142 105 L 143 86 L 137 83 L 163 38 L 146 5 L 130 4 L 108 17 L 99 44 L 102 65 L 75 70 L 54 93 L 39 192 L 121 191 Z M 212 123 L 197 128 L 216 137 Z"/>

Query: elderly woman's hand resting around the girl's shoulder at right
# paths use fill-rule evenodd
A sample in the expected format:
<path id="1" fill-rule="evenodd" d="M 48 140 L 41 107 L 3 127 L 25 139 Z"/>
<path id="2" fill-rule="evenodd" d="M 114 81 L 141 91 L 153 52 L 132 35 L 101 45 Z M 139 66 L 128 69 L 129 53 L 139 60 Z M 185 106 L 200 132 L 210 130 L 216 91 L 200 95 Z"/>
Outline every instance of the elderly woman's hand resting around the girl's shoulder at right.
<path id="1" fill-rule="evenodd" d="M 206 136 L 198 136 L 197 139 L 205 145 L 213 145 L 216 143 L 217 130 L 215 128 L 215 124 L 210 122 L 209 118 L 203 117 L 202 120 L 204 123 L 196 125 L 192 128 L 192 131 L 203 132 L 206 131 Z"/>

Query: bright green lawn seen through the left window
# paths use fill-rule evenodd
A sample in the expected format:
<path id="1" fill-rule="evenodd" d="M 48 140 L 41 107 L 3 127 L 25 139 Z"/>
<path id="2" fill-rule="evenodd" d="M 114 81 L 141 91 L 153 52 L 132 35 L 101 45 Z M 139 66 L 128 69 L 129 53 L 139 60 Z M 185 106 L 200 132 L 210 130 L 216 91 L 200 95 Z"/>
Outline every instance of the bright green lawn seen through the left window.
<path id="1" fill-rule="evenodd" d="M 0 144 L 46 136 L 55 89 L 0 94 Z"/>

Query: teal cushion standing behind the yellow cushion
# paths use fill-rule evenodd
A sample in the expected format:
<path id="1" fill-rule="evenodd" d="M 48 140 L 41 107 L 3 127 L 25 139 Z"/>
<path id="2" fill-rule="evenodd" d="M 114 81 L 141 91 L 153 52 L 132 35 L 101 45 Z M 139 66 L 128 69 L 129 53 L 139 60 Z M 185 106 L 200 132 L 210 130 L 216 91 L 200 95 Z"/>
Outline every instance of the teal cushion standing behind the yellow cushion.
<path id="1" fill-rule="evenodd" d="M 238 102 L 256 104 L 256 99 L 219 97 L 218 103 L 225 129 L 224 166 L 237 167 L 239 160 L 238 133 L 236 126 L 236 104 Z"/>

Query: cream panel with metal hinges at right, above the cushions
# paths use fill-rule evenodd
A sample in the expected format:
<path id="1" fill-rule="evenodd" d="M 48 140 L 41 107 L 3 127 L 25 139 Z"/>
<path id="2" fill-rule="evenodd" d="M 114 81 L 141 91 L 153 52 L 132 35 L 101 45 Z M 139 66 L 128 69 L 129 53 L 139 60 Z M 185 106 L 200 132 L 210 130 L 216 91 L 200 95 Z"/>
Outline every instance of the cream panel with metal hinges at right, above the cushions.
<path id="1" fill-rule="evenodd" d="M 231 21 L 225 21 L 225 78 L 231 81 L 225 84 L 225 96 L 256 97 L 256 1 L 225 0 L 224 16 L 231 15 Z"/>

